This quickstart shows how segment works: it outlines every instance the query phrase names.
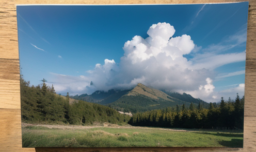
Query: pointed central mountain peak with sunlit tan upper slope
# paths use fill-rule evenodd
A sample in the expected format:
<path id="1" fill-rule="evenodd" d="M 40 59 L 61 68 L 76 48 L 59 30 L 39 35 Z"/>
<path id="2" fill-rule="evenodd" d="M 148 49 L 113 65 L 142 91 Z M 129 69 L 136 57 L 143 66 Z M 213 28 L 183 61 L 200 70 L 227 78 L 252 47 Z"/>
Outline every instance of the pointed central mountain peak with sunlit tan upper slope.
<path id="1" fill-rule="evenodd" d="M 189 107 L 190 102 L 175 99 L 163 91 L 149 88 L 139 83 L 134 89 L 127 92 L 117 101 L 108 105 L 119 110 L 138 112 L 162 109 L 182 104 L 185 104 L 186 107 Z"/>

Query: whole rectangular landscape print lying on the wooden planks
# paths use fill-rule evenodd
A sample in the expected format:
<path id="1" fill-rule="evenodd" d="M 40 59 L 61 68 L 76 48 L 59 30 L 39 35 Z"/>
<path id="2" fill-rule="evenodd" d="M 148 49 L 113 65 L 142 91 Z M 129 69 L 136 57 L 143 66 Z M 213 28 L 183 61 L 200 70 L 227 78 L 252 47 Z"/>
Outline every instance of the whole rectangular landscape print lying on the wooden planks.
<path id="1" fill-rule="evenodd" d="M 247 17 L 18 5 L 23 147 L 243 147 Z"/>

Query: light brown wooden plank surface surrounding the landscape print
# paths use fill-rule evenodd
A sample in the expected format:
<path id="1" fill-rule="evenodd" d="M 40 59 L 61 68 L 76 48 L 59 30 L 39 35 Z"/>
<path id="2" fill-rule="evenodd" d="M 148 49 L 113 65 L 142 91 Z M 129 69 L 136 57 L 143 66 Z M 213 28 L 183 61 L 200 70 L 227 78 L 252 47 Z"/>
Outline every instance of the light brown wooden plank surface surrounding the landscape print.
<path id="1" fill-rule="evenodd" d="M 172 4 L 227 3 L 236 0 L 118 1 L 118 0 L 2 0 L 0 2 L 0 151 L 256 151 L 256 1 L 249 1 L 246 46 L 244 148 L 22 148 L 19 51 L 16 5 L 18 4 Z"/>

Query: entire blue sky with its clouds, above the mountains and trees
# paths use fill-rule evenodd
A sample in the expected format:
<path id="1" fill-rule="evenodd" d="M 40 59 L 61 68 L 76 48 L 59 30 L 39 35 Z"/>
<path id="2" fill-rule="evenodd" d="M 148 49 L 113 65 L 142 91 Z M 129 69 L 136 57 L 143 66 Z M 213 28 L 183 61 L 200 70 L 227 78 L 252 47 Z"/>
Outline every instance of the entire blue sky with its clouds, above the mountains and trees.
<path id="1" fill-rule="evenodd" d="M 247 15 L 248 2 L 20 5 L 22 74 L 31 85 L 44 78 L 62 94 L 125 89 L 141 82 L 209 102 L 234 99 L 236 92 L 244 95 Z M 162 40 L 161 28 L 174 33 Z"/>

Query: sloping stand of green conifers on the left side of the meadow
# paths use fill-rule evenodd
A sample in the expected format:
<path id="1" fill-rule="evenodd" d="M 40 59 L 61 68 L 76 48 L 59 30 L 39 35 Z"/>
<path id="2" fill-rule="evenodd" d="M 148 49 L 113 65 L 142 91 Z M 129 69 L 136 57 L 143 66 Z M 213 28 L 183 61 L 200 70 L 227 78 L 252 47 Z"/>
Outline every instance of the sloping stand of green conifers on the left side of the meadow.
<path id="1" fill-rule="evenodd" d="M 88 125 L 98 123 L 127 123 L 131 117 L 99 104 L 77 101 L 69 104 L 69 96 L 56 94 L 46 81 L 29 86 L 21 77 L 21 118 L 26 123 Z"/>

